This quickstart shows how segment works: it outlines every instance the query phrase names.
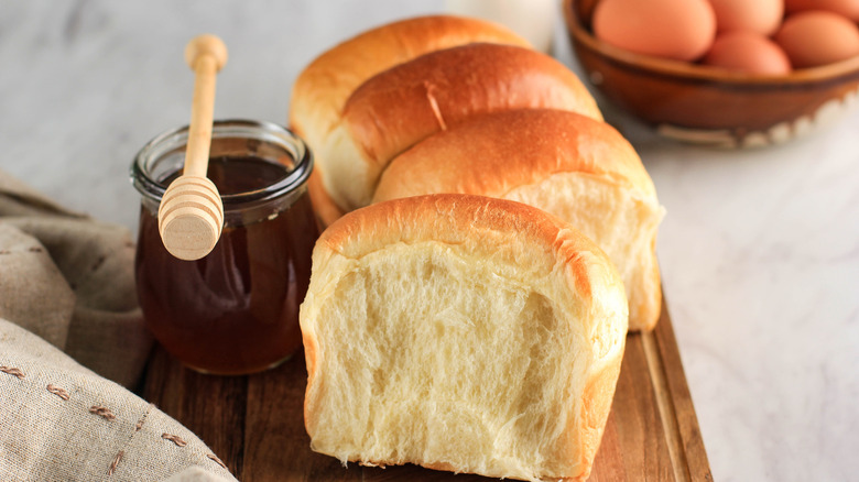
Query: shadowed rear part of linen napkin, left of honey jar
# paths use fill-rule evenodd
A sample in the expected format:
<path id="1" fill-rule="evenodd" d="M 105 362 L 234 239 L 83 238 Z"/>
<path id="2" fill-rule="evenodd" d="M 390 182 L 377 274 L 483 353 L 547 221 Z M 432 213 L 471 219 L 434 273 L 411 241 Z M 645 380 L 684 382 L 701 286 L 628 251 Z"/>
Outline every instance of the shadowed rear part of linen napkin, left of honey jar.
<path id="1" fill-rule="evenodd" d="M 127 229 L 68 211 L 0 171 L 0 317 L 133 385 L 152 348 Z"/>

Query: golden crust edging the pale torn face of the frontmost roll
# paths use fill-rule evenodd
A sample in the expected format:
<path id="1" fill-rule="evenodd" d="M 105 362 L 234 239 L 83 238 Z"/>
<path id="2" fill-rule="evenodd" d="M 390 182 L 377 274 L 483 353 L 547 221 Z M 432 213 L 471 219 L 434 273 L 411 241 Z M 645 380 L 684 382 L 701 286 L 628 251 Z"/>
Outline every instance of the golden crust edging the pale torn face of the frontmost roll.
<path id="1" fill-rule="evenodd" d="M 623 287 L 606 254 L 566 222 L 531 206 L 482 196 L 443 194 L 394 199 L 349 212 L 333 223 L 317 241 L 313 260 L 314 277 L 308 298 L 302 306 L 302 332 L 308 373 L 305 425 L 312 438 L 316 424 L 314 410 L 317 407 L 314 401 L 318 397 L 312 395 L 312 392 L 318 391 L 316 385 L 324 383 L 320 380 L 324 374 L 317 373 L 317 357 L 320 353 L 315 326 L 326 320 L 316 317 L 322 313 L 320 304 L 329 303 L 325 298 L 333 296 L 331 286 L 347 274 L 328 272 L 328 261 L 340 256 L 360 260 L 390 245 L 411 245 L 424 241 L 438 241 L 456 247 L 457 250 L 482 255 L 487 263 L 501 260 L 514 263 L 524 272 L 536 273 L 535 276 L 559 273 L 565 280 L 567 293 L 574 294 L 573 305 L 579 306 L 580 313 L 613 311 L 626 316 Z M 567 304 L 573 298 L 556 302 Z M 565 451 L 557 457 L 573 460 L 573 472 L 564 476 L 568 480 L 585 480 L 590 472 L 611 406 L 627 325 L 626 318 L 621 322 L 620 318 L 592 315 L 568 321 L 579 325 L 577 331 L 580 329 L 589 341 L 575 344 L 576 350 L 588 353 L 583 355 L 583 360 L 588 361 L 583 398 L 580 403 L 574 404 L 578 412 L 576 416 L 569 417 L 567 439 L 561 445 L 572 453 Z M 350 459 L 377 465 L 403 463 L 403 460 Z M 432 469 L 464 470 L 438 461 L 405 461 Z M 507 473 L 485 474 L 510 476 Z"/>

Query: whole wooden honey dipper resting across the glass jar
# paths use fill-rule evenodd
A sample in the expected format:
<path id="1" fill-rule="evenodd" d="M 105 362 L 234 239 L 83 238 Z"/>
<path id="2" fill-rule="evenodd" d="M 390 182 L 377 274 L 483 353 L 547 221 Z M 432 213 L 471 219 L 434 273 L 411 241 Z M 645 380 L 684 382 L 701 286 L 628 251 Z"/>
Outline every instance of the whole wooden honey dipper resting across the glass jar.
<path id="1" fill-rule="evenodd" d="M 199 260 L 215 248 L 224 227 L 224 202 L 206 173 L 215 77 L 227 63 L 227 46 L 215 35 L 199 35 L 185 47 L 185 62 L 195 74 L 185 168 L 161 198 L 159 232 L 171 254 L 180 260 Z"/>

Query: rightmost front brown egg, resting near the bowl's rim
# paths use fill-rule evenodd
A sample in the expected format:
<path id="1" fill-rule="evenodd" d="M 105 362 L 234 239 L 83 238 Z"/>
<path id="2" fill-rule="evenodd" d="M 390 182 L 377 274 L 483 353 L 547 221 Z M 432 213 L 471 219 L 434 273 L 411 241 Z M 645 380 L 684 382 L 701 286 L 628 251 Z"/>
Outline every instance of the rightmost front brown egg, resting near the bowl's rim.
<path id="1" fill-rule="evenodd" d="M 833 64 L 859 55 L 859 28 L 823 10 L 794 13 L 775 34 L 794 68 Z"/>

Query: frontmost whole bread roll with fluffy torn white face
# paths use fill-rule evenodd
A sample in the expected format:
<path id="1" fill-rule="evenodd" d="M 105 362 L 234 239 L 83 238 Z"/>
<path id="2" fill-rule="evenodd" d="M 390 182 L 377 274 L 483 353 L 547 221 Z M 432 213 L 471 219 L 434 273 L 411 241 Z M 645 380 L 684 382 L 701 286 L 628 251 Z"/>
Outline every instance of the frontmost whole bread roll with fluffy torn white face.
<path id="1" fill-rule="evenodd" d="M 312 448 L 522 480 L 585 480 L 627 332 L 606 254 L 536 208 L 380 202 L 319 238 L 301 307 Z"/>

